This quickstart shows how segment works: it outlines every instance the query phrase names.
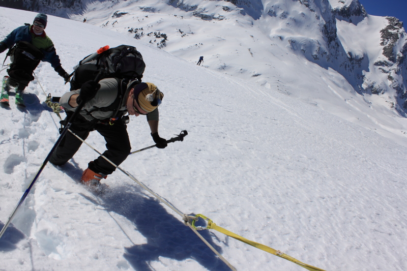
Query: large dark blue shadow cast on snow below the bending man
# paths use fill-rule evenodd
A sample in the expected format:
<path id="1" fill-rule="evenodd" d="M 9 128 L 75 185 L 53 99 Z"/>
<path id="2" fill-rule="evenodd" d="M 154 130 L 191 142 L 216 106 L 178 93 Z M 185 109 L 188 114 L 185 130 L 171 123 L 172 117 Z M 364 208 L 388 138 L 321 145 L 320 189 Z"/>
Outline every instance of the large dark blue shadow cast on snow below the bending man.
<path id="1" fill-rule="evenodd" d="M 76 164 L 73 159 L 70 161 Z M 70 163 L 62 169 L 74 179 L 80 178 L 81 169 Z M 99 196 L 102 201 L 80 194 L 96 205 L 101 205 L 107 212 L 114 212 L 131 221 L 138 232 L 147 238 L 146 244 L 134 244 L 125 248 L 124 257 L 137 271 L 152 271 L 152 261 L 159 257 L 178 261 L 193 259 L 212 271 L 226 271 L 230 268 L 180 219 L 168 214 L 164 206 L 154 197 L 140 192 L 138 186 L 114 186 L 106 194 Z M 198 223 L 196 223 L 198 225 Z M 130 236 L 131 232 L 124 232 Z M 221 253 L 221 247 L 213 242 L 213 234 L 208 230 L 199 232 Z M 216 236 L 215 236 L 216 238 Z"/>

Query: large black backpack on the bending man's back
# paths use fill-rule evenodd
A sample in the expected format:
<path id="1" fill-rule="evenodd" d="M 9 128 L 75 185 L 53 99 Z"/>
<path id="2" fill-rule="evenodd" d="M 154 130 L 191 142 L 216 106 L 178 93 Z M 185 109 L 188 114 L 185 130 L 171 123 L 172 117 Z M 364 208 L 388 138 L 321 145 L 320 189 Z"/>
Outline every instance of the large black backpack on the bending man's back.
<path id="1" fill-rule="evenodd" d="M 136 47 L 130 45 L 120 45 L 88 55 L 73 68 L 71 91 L 79 89 L 84 82 L 95 79 L 101 68 L 105 69 L 103 78 L 141 81 L 146 64 Z"/>

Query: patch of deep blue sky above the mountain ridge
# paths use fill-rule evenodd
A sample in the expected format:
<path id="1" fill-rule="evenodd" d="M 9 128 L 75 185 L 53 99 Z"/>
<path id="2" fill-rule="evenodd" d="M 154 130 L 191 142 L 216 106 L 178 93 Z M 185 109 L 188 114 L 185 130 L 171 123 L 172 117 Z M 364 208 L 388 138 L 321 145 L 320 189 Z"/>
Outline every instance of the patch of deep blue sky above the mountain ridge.
<path id="1" fill-rule="evenodd" d="M 376 16 L 392 16 L 407 26 L 407 1 L 406 0 L 359 0 L 366 12 Z"/>

